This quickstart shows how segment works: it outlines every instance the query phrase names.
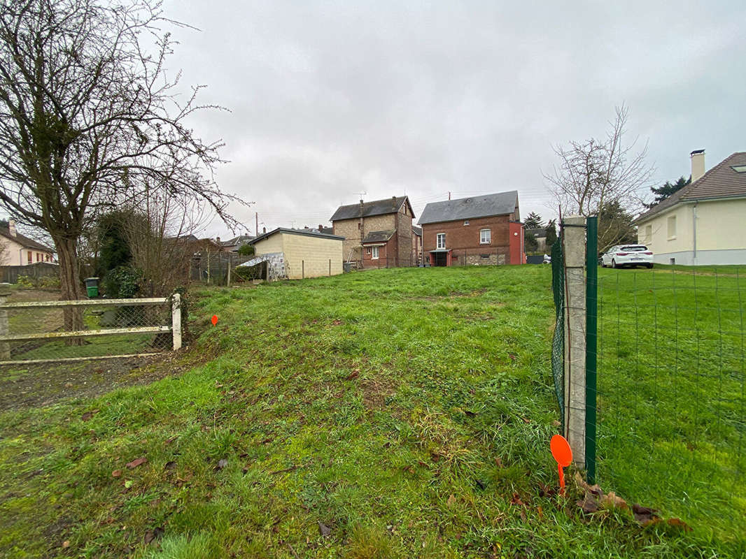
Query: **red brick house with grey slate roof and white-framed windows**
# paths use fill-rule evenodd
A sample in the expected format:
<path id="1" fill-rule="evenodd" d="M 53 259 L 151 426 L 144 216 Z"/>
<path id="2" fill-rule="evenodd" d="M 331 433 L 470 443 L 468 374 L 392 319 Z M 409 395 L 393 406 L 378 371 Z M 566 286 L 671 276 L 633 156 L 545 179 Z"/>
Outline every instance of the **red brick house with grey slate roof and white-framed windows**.
<path id="1" fill-rule="evenodd" d="M 523 264 L 518 192 L 428 203 L 419 220 L 431 266 Z"/>

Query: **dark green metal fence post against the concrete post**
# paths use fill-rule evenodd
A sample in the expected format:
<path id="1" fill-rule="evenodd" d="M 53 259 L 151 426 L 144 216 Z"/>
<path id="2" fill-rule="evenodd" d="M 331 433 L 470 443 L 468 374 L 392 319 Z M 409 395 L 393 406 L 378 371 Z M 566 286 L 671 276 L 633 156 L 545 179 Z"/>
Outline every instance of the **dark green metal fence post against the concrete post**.
<path id="1" fill-rule="evenodd" d="M 586 476 L 596 477 L 596 349 L 598 336 L 598 218 L 586 221 Z"/>

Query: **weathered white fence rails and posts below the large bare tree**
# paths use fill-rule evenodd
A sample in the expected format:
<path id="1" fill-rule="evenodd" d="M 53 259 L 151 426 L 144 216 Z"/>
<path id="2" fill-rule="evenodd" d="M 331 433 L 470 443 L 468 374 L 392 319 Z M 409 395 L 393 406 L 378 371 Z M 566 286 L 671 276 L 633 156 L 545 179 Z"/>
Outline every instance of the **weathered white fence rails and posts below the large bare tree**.
<path id="1" fill-rule="evenodd" d="M 0 363 L 40 363 L 53 361 L 80 361 L 82 359 L 104 359 L 108 357 L 131 357 L 126 356 L 97 356 L 97 357 L 73 357 L 64 359 L 33 359 L 25 361 L 10 361 L 10 341 L 59 339 L 59 338 L 84 338 L 87 336 L 115 335 L 115 334 L 148 334 L 160 332 L 173 332 L 174 350 L 181 348 L 181 295 L 173 294 L 171 297 L 148 297 L 141 299 L 88 299 L 88 300 L 65 300 L 65 301 L 26 301 L 23 303 L 6 303 L 7 294 L 0 294 Z M 158 306 L 171 303 L 171 325 L 170 326 L 138 326 L 136 328 L 101 328 L 95 330 L 75 330 L 71 332 L 42 332 L 13 334 L 9 332 L 7 311 L 10 309 L 34 309 L 38 307 L 86 307 L 86 306 Z M 154 354 L 139 354 L 154 355 Z"/>

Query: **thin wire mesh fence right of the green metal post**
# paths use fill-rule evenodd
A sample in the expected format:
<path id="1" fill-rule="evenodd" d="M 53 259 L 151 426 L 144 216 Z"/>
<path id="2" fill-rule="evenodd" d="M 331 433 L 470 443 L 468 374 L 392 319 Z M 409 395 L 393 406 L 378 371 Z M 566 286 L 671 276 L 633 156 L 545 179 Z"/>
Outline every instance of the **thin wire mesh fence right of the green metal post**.
<path id="1" fill-rule="evenodd" d="M 598 275 L 598 481 L 746 533 L 746 268 Z"/>

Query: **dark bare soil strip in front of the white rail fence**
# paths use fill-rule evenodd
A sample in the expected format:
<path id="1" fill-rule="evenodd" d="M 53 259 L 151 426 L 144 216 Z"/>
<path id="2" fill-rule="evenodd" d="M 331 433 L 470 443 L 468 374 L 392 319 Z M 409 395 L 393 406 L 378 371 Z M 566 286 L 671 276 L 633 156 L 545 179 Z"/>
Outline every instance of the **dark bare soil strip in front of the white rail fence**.
<path id="1" fill-rule="evenodd" d="M 175 370 L 169 356 L 95 359 L 60 364 L 0 366 L 0 411 L 90 398 L 125 386 L 147 385 Z"/>

